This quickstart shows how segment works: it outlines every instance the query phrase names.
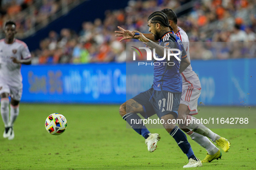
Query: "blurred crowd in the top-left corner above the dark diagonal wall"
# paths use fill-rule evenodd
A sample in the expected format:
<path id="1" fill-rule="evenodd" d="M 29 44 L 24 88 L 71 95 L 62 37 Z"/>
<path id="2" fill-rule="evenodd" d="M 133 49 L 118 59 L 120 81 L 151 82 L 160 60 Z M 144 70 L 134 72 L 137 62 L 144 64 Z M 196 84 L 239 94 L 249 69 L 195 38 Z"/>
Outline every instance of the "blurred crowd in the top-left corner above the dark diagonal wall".
<path id="1" fill-rule="evenodd" d="M 45 26 L 56 19 L 56 14 L 65 12 L 82 0 L 0 0 L 0 28 L 12 20 L 16 22 L 17 37 L 31 35 L 38 26 Z"/>

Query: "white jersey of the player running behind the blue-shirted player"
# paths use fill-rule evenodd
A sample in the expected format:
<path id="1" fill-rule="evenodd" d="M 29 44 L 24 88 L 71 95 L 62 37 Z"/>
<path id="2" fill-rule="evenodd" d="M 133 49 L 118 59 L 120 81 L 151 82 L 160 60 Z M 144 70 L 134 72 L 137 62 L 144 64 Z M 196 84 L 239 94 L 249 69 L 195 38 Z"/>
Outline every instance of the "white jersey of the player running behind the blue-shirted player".
<path id="1" fill-rule="evenodd" d="M 188 35 L 180 27 L 178 27 L 178 31 L 176 31 L 175 34 L 178 36 L 178 38 L 181 39 L 181 41 L 183 43 L 183 47 L 186 50 L 186 53 L 188 56 L 188 60 L 190 60 Z M 182 77 L 183 84 L 188 83 L 191 80 L 194 82 L 194 84 L 197 87 L 198 87 L 198 85 L 200 86 L 198 88 L 201 88 L 200 82 L 199 82 L 199 84 L 196 83 L 197 81 L 199 81 L 199 79 L 198 79 L 198 76 L 196 75 L 196 73 L 192 70 L 191 64 L 181 73 L 181 77 Z"/>

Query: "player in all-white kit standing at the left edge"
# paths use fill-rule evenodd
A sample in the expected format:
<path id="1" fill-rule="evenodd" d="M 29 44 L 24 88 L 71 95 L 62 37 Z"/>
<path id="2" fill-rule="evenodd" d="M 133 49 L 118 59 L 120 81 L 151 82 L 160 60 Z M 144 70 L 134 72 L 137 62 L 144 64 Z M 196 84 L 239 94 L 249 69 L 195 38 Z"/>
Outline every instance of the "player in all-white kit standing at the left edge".
<path id="1" fill-rule="evenodd" d="M 19 101 L 23 89 L 20 67 L 21 64 L 31 64 L 31 54 L 23 41 L 14 38 L 15 22 L 5 23 L 4 34 L 5 38 L 0 40 L 0 112 L 5 126 L 3 137 L 12 140 L 14 138 L 13 123 L 19 115 Z"/>

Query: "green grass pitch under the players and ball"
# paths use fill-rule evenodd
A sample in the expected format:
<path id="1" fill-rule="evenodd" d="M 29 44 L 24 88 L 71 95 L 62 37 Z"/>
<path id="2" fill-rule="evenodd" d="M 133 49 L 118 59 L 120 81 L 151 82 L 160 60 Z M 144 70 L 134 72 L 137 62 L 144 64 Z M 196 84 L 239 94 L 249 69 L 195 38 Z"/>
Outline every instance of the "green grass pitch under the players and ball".
<path id="1" fill-rule="evenodd" d="M 0 170 L 73 169 L 183 169 L 188 163 L 175 140 L 165 129 L 159 133 L 157 150 L 149 153 L 145 140 L 118 113 L 118 105 L 20 104 L 13 141 L 0 136 Z M 201 107 L 200 114 L 216 111 L 239 112 L 243 107 Z M 256 108 L 250 108 L 256 113 Z M 45 130 L 45 119 L 61 113 L 68 120 L 59 136 Z M 3 122 L 0 121 L 3 132 Z M 222 159 L 194 169 L 256 169 L 256 129 L 212 129 L 229 139 L 231 148 Z M 194 154 L 203 159 L 206 151 L 188 137 Z"/>

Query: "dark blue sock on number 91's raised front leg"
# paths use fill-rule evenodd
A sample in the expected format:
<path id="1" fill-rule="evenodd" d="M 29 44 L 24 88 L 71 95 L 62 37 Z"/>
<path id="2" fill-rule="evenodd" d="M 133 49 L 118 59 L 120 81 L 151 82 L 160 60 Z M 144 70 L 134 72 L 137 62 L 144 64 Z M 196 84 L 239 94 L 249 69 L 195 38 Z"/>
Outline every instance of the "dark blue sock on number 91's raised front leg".
<path id="1" fill-rule="evenodd" d="M 142 135 L 145 139 L 149 137 L 149 130 L 143 125 L 142 119 L 135 113 L 127 113 L 123 116 L 125 120 L 139 135 Z"/>

